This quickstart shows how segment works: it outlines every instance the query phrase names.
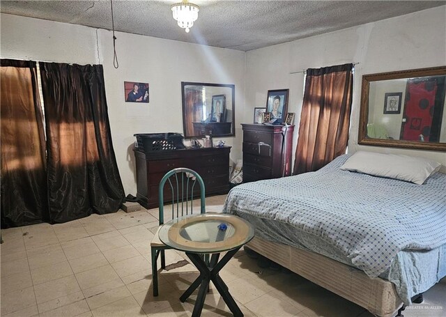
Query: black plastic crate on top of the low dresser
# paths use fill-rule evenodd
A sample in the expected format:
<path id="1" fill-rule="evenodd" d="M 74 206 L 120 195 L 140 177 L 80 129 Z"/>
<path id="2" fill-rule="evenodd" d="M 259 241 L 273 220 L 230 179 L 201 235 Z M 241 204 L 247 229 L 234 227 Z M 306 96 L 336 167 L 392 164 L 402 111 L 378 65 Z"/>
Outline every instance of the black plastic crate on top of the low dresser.
<path id="1" fill-rule="evenodd" d="M 144 153 L 185 148 L 183 136 L 178 133 L 139 133 L 133 135 L 137 138 L 138 149 Z"/>

